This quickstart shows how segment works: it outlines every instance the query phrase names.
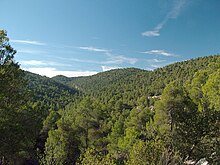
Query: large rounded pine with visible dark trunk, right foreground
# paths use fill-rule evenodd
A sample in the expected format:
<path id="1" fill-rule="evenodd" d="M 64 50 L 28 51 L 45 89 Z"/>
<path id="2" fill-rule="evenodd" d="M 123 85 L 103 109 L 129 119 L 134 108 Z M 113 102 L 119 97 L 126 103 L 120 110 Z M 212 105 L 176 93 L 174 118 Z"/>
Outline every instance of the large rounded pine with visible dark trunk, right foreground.
<path id="1" fill-rule="evenodd" d="M 177 152 L 182 159 L 191 155 L 192 146 L 198 143 L 197 108 L 177 82 L 169 84 L 156 105 L 155 125 L 165 146 L 168 148 L 168 162 Z M 175 159 L 174 159 L 175 160 Z"/>

